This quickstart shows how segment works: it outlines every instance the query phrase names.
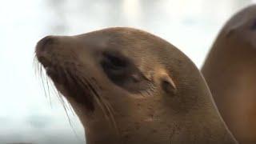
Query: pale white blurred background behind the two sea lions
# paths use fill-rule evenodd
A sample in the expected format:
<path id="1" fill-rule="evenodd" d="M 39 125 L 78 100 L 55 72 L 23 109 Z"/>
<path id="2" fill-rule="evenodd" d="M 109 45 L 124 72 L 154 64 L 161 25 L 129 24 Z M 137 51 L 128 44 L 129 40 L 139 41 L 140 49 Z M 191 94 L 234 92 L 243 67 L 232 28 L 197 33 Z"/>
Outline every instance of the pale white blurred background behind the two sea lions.
<path id="1" fill-rule="evenodd" d="M 48 34 L 130 26 L 178 46 L 200 68 L 224 23 L 255 0 L 22 0 L 0 5 L 0 143 L 82 144 L 82 125 L 34 73 Z"/>

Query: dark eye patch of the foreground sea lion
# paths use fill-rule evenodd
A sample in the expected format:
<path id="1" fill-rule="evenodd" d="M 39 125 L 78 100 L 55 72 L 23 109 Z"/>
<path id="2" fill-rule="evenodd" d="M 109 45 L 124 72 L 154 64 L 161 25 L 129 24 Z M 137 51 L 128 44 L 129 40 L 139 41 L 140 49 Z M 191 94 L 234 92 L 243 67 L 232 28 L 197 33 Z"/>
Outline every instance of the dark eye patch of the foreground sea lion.
<path id="1" fill-rule="evenodd" d="M 148 80 L 134 65 L 134 62 L 120 52 L 103 52 L 101 65 L 102 70 L 110 81 L 131 93 L 138 93 L 149 86 Z"/>

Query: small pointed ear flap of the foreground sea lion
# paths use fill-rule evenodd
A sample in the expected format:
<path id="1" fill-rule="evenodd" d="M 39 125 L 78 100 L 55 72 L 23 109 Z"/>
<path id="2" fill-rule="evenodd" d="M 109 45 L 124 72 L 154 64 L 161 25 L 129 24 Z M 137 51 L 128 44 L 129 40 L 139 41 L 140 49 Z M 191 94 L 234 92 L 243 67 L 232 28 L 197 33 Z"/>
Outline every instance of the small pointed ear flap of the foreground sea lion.
<path id="1" fill-rule="evenodd" d="M 172 78 L 169 75 L 163 74 L 161 77 L 161 86 L 162 90 L 166 92 L 166 94 L 175 94 L 177 88 Z"/>

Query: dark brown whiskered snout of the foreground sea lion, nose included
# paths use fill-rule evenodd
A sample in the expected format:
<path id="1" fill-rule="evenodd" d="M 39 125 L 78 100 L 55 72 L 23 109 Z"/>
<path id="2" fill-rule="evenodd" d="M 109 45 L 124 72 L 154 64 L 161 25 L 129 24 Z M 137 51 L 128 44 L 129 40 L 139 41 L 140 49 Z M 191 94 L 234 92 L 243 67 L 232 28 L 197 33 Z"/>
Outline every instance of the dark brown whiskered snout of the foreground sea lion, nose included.
<path id="1" fill-rule="evenodd" d="M 87 74 L 86 78 L 83 77 L 89 69 L 86 64 L 81 66 L 78 54 L 84 53 L 81 47 L 70 46 L 73 40 L 68 36 L 46 36 L 37 43 L 35 54 L 60 93 L 85 104 L 86 110 L 93 111 L 91 79 L 86 77 Z"/>

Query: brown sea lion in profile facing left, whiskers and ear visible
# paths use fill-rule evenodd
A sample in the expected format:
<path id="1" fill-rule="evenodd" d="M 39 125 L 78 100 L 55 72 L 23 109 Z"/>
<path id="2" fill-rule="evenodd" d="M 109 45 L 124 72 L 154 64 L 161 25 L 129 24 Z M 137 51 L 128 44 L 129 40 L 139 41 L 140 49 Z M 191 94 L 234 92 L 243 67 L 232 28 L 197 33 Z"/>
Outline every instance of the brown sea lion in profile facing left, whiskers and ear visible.
<path id="1" fill-rule="evenodd" d="M 35 50 L 87 144 L 236 143 L 194 63 L 153 34 L 108 28 L 47 36 Z"/>

